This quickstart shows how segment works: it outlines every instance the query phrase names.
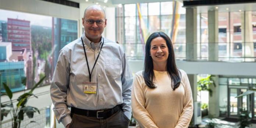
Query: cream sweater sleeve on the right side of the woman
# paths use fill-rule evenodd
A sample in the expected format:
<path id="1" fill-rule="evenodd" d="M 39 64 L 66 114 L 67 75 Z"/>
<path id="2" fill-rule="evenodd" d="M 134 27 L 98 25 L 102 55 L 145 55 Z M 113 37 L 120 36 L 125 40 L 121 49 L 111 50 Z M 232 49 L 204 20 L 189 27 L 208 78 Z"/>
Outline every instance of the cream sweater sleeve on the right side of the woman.
<path id="1" fill-rule="evenodd" d="M 193 97 L 186 73 L 184 74 L 183 79 L 185 86 L 185 102 L 183 103 L 182 113 L 181 116 L 179 116 L 179 120 L 175 128 L 188 128 L 193 116 Z"/>

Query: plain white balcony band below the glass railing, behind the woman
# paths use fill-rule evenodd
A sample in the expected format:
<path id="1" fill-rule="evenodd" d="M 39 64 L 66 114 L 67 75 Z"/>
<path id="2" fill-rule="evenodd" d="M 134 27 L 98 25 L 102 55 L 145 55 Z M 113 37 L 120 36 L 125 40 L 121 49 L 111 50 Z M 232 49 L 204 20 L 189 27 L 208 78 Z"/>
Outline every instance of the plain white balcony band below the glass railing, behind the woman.
<path id="1" fill-rule="evenodd" d="M 143 61 L 128 62 L 133 73 L 143 69 Z M 176 61 L 176 64 L 178 68 L 184 70 L 187 74 L 256 76 L 255 62 Z"/>

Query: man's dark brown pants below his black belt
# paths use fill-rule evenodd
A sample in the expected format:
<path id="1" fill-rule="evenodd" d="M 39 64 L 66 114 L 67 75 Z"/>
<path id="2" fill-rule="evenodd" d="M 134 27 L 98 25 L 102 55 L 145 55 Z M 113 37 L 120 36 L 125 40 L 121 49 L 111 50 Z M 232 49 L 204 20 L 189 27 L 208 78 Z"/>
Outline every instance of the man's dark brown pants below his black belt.
<path id="1" fill-rule="evenodd" d="M 122 110 L 114 113 L 106 119 L 87 117 L 79 114 L 72 114 L 70 128 L 128 128 L 130 120 Z"/>

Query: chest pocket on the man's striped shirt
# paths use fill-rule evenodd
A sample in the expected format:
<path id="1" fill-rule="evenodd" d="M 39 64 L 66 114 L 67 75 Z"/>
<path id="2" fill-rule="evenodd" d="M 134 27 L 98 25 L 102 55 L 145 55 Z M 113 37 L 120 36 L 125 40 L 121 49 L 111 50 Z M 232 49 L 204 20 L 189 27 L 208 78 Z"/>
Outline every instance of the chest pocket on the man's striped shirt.
<path id="1" fill-rule="evenodd" d="M 119 59 L 105 59 L 105 71 L 106 75 L 116 78 L 121 76 L 122 73 L 122 63 Z"/>

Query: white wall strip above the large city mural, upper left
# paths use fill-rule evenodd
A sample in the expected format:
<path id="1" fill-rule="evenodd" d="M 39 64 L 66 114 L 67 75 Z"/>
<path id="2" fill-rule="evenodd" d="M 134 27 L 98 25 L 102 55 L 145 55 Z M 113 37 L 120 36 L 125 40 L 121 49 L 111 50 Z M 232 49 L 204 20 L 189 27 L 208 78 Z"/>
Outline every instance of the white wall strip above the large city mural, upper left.
<path id="1" fill-rule="evenodd" d="M 79 8 L 42 0 L 0 0 L 0 9 L 78 20 Z"/>

